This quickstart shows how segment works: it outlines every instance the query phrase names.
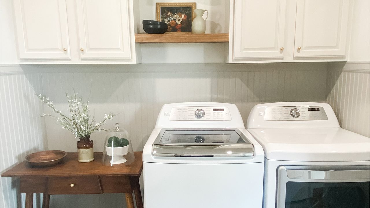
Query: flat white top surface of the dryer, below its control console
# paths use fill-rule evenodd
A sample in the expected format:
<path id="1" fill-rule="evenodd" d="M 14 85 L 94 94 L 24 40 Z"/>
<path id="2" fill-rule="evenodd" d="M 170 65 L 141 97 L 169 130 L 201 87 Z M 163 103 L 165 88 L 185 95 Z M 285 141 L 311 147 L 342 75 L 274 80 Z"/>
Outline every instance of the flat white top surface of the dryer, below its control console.
<path id="1" fill-rule="evenodd" d="M 254 128 L 268 160 L 369 161 L 370 138 L 343 128 Z"/>

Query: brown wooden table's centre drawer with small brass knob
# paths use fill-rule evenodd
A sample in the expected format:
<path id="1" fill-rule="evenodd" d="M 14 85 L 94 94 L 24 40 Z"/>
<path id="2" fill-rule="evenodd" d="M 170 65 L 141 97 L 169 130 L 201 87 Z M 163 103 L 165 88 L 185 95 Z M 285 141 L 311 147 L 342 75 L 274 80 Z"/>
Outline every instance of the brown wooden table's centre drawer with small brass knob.
<path id="1" fill-rule="evenodd" d="M 48 194 L 101 194 L 99 178 L 85 177 L 48 177 Z"/>

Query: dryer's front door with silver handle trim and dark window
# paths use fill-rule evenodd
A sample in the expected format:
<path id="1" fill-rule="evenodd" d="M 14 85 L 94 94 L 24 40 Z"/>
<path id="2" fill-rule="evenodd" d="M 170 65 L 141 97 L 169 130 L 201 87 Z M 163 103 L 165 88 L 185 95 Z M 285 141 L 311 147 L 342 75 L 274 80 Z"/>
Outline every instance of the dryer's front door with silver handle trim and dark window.
<path id="1" fill-rule="evenodd" d="M 280 166 L 277 208 L 369 207 L 369 165 Z"/>

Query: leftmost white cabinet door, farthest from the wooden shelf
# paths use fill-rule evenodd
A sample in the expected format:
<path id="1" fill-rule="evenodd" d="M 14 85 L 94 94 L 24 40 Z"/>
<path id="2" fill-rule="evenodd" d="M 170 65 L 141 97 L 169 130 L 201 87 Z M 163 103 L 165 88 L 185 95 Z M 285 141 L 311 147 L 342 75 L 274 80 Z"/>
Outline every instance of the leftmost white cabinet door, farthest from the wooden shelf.
<path id="1" fill-rule="evenodd" d="M 65 0 L 15 0 L 20 59 L 69 59 Z"/>

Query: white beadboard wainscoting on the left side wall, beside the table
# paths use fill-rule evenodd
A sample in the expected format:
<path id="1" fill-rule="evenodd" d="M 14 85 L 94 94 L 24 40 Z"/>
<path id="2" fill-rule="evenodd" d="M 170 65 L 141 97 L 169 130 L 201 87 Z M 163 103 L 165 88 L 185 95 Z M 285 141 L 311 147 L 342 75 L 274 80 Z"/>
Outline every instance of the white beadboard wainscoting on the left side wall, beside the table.
<path id="1" fill-rule="evenodd" d="M 33 152 L 47 149 L 46 128 L 40 117 L 43 108 L 33 89 L 41 90 L 41 74 L 14 74 L 0 77 L 1 174 L 22 162 Z M 33 84 L 30 84 L 33 83 Z M 17 178 L 1 177 L 0 207 L 24 207 L 24 194 L 19 193 Z M 36 194 L 39 205 L 42 195 Z"/>

